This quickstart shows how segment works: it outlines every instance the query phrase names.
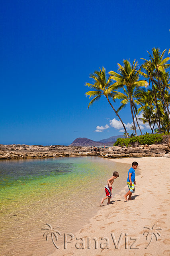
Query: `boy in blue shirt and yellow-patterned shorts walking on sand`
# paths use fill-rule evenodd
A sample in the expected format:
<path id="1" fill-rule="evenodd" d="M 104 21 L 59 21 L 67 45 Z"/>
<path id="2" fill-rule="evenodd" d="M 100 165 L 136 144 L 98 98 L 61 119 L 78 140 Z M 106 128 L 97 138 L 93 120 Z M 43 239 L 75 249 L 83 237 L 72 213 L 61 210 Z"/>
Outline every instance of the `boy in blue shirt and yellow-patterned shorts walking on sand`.
<path id="1" fill-rule="evenodd" d="M 136 185 L 135 170 L 137 169 L 137 166 L 138 166 L 138 163 L 133 162 L 132 167 L 129 169 L 129 172 L 128 172 L 127 186 L 129 188 L 129 191 L 123 196 L 126 201 L 131 200 L 131 195 L 132 193 L 135 192 L 135 185 Z M 127 199 L 127 196 L 129 196 L 128 199 Z"/>

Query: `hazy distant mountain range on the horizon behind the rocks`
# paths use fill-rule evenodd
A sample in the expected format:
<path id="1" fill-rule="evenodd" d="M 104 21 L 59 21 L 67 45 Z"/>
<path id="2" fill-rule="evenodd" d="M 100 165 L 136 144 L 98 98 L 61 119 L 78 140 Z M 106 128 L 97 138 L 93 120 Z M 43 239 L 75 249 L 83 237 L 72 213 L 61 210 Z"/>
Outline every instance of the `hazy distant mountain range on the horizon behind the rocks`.
<path id="1" fill-rule="evenodd" d="M 112 136 L 100 141 L 94 141 L 88 138 L 76 138 L 69 146 L 113 146 L 117 138 L 123 138 L 123 135 Z"/>

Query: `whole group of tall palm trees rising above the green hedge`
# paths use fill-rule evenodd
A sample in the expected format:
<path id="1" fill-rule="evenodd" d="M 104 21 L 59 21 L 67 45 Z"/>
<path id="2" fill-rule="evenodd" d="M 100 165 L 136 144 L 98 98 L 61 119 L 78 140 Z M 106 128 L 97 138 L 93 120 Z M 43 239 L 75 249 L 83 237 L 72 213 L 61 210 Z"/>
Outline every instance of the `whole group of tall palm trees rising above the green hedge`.
<path id="1" fill-rule="evenodd" d="M 128 138 L 129 134 L 119 111 L 130 103 L 133 120 L 131 128 L 135 131 L 131 136 L 137 136 L 137 126 L 143 135 L 138 120 L 149 124 L 151 134 L 170 134 L 170 57 L 165 57 L 165 53 L 166 50 L 160 52 L 159 48 L 152 48 L 149 60 L 141 58 L 141 66 L 136 60 L 133 60 L 132 64 L 130 60 L 123 60 L 123 65 L 117 63 L 117 72 L 111 70 L 106 74 L 104 67 L 94 71 L 90 74 L 90 78 L 94 80 L 93 84 L 86 83 L 86 86 L 92 89 L 86 92 L 86 96 L 92 98 L 88 108 L 105 96 L 122 123 L 125 137 Z M 121 106 L 115 110 L 114 103 L 117 99 L 121 100 Z M 142 113 L 142 118 L 137 118 L 139 113 Z M 155 124 L 158 128 L 155 128 Z"/>

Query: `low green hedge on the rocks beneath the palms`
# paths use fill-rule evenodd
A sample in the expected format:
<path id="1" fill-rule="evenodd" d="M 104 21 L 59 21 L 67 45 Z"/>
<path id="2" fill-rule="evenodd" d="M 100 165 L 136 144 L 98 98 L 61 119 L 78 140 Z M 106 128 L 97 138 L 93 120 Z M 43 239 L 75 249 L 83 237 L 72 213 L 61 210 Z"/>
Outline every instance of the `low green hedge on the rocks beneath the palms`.
<path id="1" fill-rule="evenodd" d="M 136 136 L 132 138 L 117 138 L 117 141 L 113 146 L 135 146 L 135 145 L 151 145 L 151 144 L 159 144 L 163 140 L 162 134 L 146 134 L 141 136 Z"/>

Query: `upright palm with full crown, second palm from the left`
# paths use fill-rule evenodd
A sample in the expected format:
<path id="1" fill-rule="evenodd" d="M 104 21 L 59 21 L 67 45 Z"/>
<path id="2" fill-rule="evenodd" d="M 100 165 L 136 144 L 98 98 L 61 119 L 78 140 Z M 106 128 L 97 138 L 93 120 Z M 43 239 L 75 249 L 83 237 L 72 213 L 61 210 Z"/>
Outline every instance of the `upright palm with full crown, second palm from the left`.
<path id="1" fill-rule="evenodd" d="M 133 64 L 131 65 L 129 60 L 123 60 L 123 66 L 121 64 L 117 64 L 119 66 L 119 74 L 117 74 L 114 71 L 110 71 L 109 74 L 111 74 L 111 79 L 117 81 L 117 86 L 124 87 L 126 86 L 127 92 L 129 94 L 129 101 L 131 106 L 131 115 L 133 120 L 133 125 L 135 128 L 135 135 L 137 136 L 136 126 L 135 126 L 135 120 L 133 115 L 133 104 L 132 104 L 132 96 L 131 96 L 131 88 L 132 87 L 141 87 L 141 86 L 148 86 L 148 82 L 145 80 L 139 80 L 139 76 L 141 75 L 140 68 L 137 69 L 138 62 L 136 60 L 133 60 Z M 115 85 L 116 85 L 115 84 Z"/>

